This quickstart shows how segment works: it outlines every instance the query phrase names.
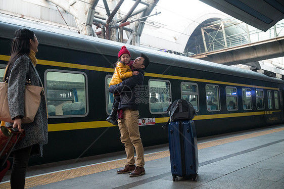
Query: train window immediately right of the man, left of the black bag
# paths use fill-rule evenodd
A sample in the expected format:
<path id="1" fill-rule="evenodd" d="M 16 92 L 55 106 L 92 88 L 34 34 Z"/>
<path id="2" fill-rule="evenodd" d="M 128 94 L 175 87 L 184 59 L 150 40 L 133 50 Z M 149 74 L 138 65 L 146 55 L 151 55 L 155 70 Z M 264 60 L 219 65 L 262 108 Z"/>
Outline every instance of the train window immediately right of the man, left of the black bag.
<path id="1" fill-rule="evenodd" d="M 171 84 L 166 80 L 149 80 L 149 106 L 152 114 L 166 113 L 171 97 Z M 141 103 L 144 102 L 141 96 Z"/>

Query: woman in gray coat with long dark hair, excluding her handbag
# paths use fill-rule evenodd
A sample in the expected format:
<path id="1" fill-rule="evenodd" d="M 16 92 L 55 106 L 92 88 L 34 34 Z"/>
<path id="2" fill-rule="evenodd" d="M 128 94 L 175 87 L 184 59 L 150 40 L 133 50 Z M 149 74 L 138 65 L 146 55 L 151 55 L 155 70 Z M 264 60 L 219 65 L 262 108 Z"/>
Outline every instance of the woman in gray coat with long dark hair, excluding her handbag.
<path id="1" fill-rule="evenodd" d="M 42 156 L 42 145 L 48 143 L 48 117 L 44 93 L 32 123 L 22 124 L 24 117 L 25 84 L 28 73 L 32 85 L 42 86 L 35 69 L 37 60 L 35 53 L 38 41 L 34 32 L 29 29 L 18 29 L 12 41 L 11 58 L 8 62 L 5 79 L 8 79 L 8 104 L 14 123 L 6 123 L 19 131 L 25 130 L 26 135 L 13 149 L 14 159 L 11 173 L 11 188 L 24 188 L 26 168 L 31 155 Z M 8 78 L 7 78 L 8 77 Z"/>

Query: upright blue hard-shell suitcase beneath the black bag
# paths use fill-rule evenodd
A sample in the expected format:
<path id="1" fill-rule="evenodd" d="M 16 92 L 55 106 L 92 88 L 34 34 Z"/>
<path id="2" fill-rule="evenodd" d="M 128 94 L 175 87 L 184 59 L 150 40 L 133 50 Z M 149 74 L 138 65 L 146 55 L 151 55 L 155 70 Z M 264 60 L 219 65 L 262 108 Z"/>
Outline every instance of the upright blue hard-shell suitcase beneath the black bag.
<path id="1" fill-rule="evenodd" d="M 168 128 L 173 181 L 177 181 L 177 176 L 197 181 L 198 149 L 194 121 L 171 121 Z"/>

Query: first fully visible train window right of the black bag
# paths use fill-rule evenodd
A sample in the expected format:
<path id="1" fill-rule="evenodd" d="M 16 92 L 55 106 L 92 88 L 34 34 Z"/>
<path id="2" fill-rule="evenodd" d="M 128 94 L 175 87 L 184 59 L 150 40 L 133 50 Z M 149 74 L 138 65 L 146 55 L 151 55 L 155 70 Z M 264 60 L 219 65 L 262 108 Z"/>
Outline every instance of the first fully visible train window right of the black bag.
<path id="1" fill-rule="evenodd" d="M 218 85 L 206 85 L 206 105 L 208 111 L 220 110 L 220 92 Z"/>

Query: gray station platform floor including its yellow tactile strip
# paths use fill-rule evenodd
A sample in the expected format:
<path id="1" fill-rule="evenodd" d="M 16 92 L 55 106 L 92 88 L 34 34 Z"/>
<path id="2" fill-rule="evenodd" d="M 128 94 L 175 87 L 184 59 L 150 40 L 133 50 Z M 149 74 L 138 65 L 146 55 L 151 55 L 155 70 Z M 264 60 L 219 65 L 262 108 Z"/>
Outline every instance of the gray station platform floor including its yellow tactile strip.
<path id="1" fill-rule="evenodd" d="M 143 139 L 143 136 L 142 136 Z M 284 125 L 198 138 L 198 181 L 172 181 L 168 145 L 145 148 L 146 174 L 117 174 L 125 153 L 31 166 L 26 188 L 284 188 Z M 10 171 L 0 188 L 10 188 Z"/>

